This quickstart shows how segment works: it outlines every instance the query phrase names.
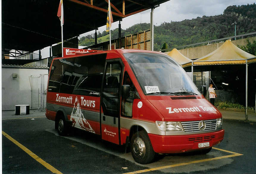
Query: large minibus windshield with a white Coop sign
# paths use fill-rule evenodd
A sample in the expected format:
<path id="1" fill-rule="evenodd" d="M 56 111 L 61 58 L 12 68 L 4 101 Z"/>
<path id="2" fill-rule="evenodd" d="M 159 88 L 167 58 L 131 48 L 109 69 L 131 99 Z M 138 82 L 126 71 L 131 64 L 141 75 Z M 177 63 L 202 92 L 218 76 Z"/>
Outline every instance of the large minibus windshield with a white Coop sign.
<path id="1" fill-rule="evenodd" d="M 169 56 L 156 53 L 124 53 L 144 94 L 200 95 L 182 67 Z"/>

